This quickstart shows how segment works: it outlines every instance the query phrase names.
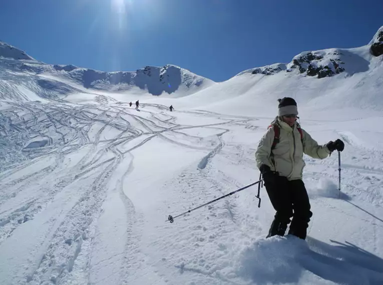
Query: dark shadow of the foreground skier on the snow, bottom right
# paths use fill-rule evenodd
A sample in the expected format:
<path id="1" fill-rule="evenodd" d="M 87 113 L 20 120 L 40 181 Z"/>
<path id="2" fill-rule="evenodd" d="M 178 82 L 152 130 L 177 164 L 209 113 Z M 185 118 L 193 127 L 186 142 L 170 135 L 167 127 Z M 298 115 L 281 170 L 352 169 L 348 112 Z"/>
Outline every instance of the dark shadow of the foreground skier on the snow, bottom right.
<path id="1" fill-rule="evenodd" d="M 383 259 L 348 242 L 307 237 L 310 250 L 298 263 L 323 279 L 346 285 L 383 284 Z"/>

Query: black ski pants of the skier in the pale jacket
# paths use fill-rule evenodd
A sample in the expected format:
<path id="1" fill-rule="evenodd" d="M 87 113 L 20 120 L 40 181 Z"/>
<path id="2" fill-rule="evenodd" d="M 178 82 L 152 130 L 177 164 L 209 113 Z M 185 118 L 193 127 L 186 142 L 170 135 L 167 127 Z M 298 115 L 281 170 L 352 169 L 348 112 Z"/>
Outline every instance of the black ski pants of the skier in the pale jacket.
<path id="1" fill-rule="evenodd" d="M 284 176 L 272 174 L 264 177 L 264 182 L 271 204 L 276 210 L 267 237 L 284 235 L 291 221 L 288 233 L 305 239 L 312 212 L 303 181 L 287 180 Z"/>

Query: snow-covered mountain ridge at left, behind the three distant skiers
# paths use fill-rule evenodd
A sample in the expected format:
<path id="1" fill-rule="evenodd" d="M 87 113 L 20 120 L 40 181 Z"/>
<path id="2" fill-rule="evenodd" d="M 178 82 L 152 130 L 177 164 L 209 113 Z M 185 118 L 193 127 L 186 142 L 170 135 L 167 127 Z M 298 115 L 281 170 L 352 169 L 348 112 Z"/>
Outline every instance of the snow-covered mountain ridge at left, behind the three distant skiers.
<path id="1" fill-rule="evenodd" d="M 92 93 L 97 90 L 152 95 L 176 93 L 177 96 L 184 96 L 214 83 L 171 64 L 119 72 L 45 64 L 4 42 L 0 42 L 0 80 L 0 97 L 13 99 L 28 99 L 23 95 L 25 89 L 34 93 L 34 98 L 63 98 L 76 92 Z M 20 91 L 20 86 L 13 86 L 10 83 L 12 80 L 22 81 L 23 91 Z"/>

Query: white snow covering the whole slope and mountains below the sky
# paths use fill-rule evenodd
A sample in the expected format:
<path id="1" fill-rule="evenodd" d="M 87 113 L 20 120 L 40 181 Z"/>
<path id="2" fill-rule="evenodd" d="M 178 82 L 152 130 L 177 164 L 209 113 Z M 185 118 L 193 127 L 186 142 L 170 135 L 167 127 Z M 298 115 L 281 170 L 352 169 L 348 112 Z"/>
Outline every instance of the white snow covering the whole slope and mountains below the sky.
<path id="1" fill-rule="evenodd" d="M 345 70 L 324 78 L 253 73 L 283 64 L 220 83 L 144 68 L 183 78 L 156 96 L 113 91 L 107 72 L 3 54 L 0 283 L 382 284 L 382 58 L 368 46 L 311 53 L 329 64 L 335 50 Z M 169 223 L 258 179 L 254 152 L 282 96 L 319 143 L 345 143 L 340 192 L 337 153 L 304 156 L 306 241 L 265 239 L 274 209 L 264 188 L 257 207 L 257 186 Z"/>

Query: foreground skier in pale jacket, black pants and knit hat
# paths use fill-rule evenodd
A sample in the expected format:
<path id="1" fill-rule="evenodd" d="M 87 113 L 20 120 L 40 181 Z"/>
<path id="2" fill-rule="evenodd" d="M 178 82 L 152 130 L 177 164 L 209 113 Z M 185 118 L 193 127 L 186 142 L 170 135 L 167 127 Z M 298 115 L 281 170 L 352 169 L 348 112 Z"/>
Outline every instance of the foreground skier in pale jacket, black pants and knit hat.
<path id="1" fill-rule="evenodd" d="M 296 121 L 296 101 L 290 97 L 278 101 L 278 116 L 261 138 L 255 152 L 257 167 L 263 175 L 267 194 L 276 210 L 266 237 L 283 236 L 291 221 L 288 234 L 305 239 L 312 212 L 302 181 L 305 165 L 303 153 L 323 159 L 334 150 L 342 151 L 344 143 L 336 139 L 318 145 Z"/>

